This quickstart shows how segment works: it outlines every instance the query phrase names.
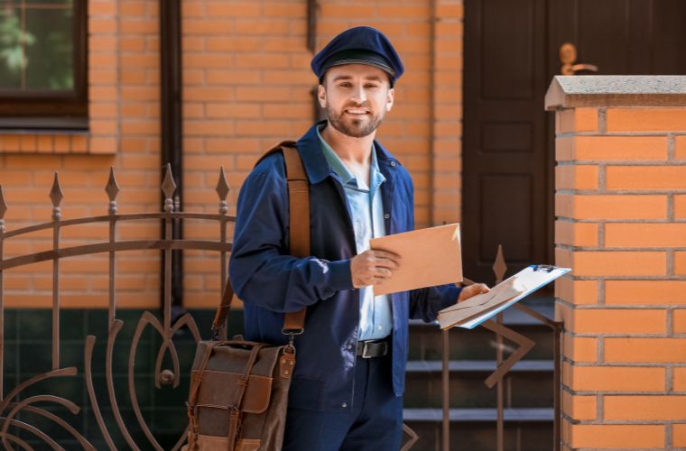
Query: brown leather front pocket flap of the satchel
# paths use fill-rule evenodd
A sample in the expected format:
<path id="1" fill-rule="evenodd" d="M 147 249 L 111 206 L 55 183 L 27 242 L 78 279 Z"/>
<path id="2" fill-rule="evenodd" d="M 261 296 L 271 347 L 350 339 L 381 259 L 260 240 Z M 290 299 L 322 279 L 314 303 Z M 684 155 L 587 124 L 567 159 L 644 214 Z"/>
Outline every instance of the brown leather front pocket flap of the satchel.
<path id="1" fill-rule="evenodd" d="M 199 376 L 198 370 L 191 372 L 191 377 L 195 381 Z M 236 400 L 236 393 L 240 389 L 238 381 L 241 374 L 225 373 L 212 370 L 205 370 L 200 382 L 197 405 L 199 407 L 213 407 L 228 409 Z M 272 395 L 271 377 L 257 376 L 251 374 L 246 385 L 246 392 L 243 395 L 242 409 L 246 413 L 262 413 L 269 407 L 269 400 Z"/>

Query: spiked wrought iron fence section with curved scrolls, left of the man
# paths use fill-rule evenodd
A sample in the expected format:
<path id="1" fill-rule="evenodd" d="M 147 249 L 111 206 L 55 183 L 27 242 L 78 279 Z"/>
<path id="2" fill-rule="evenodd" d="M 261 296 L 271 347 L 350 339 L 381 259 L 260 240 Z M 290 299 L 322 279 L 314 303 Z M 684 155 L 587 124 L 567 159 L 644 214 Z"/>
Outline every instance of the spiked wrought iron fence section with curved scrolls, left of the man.
<path id="1" fill-rule="evenodd" d="M 163 447 L 153 434 L 153 428 L 144 417 L 141 403 L 138 400 L 136 391 L 136 356 L 140 353 L 142 337 L 146 331 L 152 330 L 161 341 L 156 356 L 154 357 L 154 373 L 153 385 L 156 389 L 162 389 L 162 386 L 169 386 L 174 389 L 178 388 L 181 383 L 182 375 L 190 374 L 190 362 L 188 368 L 181 367 L 181 359 L 174 344 L 175 336 L 178 336 L 181 331 L 184 334 L 192 337 L 195 344 L 201 339 L 199 327 L 195 319 L 190 313 L 181 315 L 180 318 L 172 318 L 172 250 L 199 250 L 199 251 L 213 251 L 218 253 L 219 267 L 220 267 L 220 286 L 224 287 L 227 281 L 227 255 L 231 251 L 231 243 L 227 241 L 227 226 L 235 221 L 235 216 L 228 215 L 227 196 L 230 188 L 227 183 L 227 177 L 224 168 L 219 170 L 219 177 L 217 187 L 215 189 L 218 198 L 218 214 L 206 213 L 186 213 L 175 211 L 173 201 L 173 193 L 176 189 L 176 183 L 172 177 L 172 171 L 167 165 L 166 175 L 162 181 L 161 186 L 164 194 L 163 211 L 160 213 L 135 213 L 120 215 L 118 213 L 118 205 L 116 198 L 120 192 L 119 185 L 116 181 L 116 174 L 114 169 L 110 169 L 109 179 L 105 191 L 107 193 L 108 205 L 107 215 L 104 216 L 89 216 L 77 219 L 63 219 L 61 215 L 61 202 L 64 194 L 60 187 L 60 179 L 55 173 L 54 181 L 51 187 L 50 199 L 52 203 L 52 217 L 51 221 L 35 226 L 27 226 L 17 230 L 5 230 L 5 213 L 7 212 L 7 204 L 5 202 L 5 195 L 2 185 L 0 185 L 0 442 L 2 447 L 12 450 L 15 447 L 32 450 L 34 446 L 39 448 L 47 447 L 51 449 L 63 449 L 64 444 L 60 443 L 59 439 L 50 437 L 49 433 L 32 425 L 30 422 L 17 419 L 17 416 L 23 413 L 29 413 L 32 418 L 42 418 L 50 421 L 53 427 L 63 429 L 70 438 L 70 443 L 78 443 L 83 449 L 94 450 L 95 446 L 91 444 L 84 431 L 79 431 L 74 428 L 70 420 L 65 420 L 63 415 L 53 413 L 55 408 L 68 411 L 72 416 L 76 416 L 81 412 L 81 407 L 72 400 L 67 400 L 51 394 L 29 394 L 23 396 L 23 392 L 32 388 L 33 390 L 45 390 L 42 386 L 37 387 L 36 384 L 44 381 L 55 381 L 60 378 L 82 377 L 85 385 L 85 391 L 88 394 L 88 415 L 92 415 L 95 419 L 99 433 L 102 438 L 97 437 L 98 440 L 104 441 L 105 446 L 110 450 L 116 450 L 117 447 L 129 447 L 134 450 L 150 449 L 162 450 Z M 218 228 L 218 239 L 216 240 L 177 240 L 172 237 L 172 223 L 174 221 L 183 222 L 184 220 L 204 220 L 215 223 Z M 116 231 L 117 226 L 132 221 L 148 221 L 158 223 L 162 221 L 163 236 L 160 239 L 153 240 L 117 240 Z M 85 224 L 107 224 L 108 236 L 107 240 L 93 244 L 62 246 L 61 231 L 69 226 L 78 226 Z M 43 230 L 51 230 L 52 246 L 51 250 L 28 253 L 19 256 L 5 258 L 5 241 L 14 237 L 24 236 L 30 233 L 39 232 Z M 125 251 L 140 251 L 140 250 L 162 250 L 162 259 L 164 262 L 163 272 L 163 305 L 162 318 L 157 318 L 151 311 L 144 311 L 134 328 L 134 335 L 128 349 L 128 358 L 126 366 L 126 389 L 128 391 L 128 398 L 130 401 L 130 409 L 134 413 L 134 422 L 125 419 L 122 414 L 122 408 L 119 405 L 121 395 L 116 391 L 116 373 L 115 373 L 115 349 L 117 346 L 117 337 L 125 326 L 122 318 L 117 317 L 116 309 L 116 253 Z M 88 335 L 85 339 L 83 349 L 83 370 L 79 374 L 77 366 L 62 367 L 60 360 L 60 260 L 66 257 L 91 255 L 95 253 L 107 253 L 108 266 L 108 285 L 107 285 L 107 336 L 104 337 L 105 352 L 102 356 L 105 365 L 105 385 L 104 391 L 97 385 L 97 374 L 94 371 L 97 353 L 95 352 L 98 338 L 95 335 Z M 35 262 L 52 262 L 52 305 L 51 305 L 51 369 L 45 373 L 33 375 L 10 391 L 6 396 L 4 389 L 4 364 L 5 364 L 5 272 L 10 269 L 19 268 Z M 219 293 L 217 293 L 217 302 L 219 302 Z M 170 367 L 166 364 L 171 362 Z M 140 359 L 139 359 L 140 363 Z M 100 362 L 99 364 L 103 364 Z M 102 379 L 102 377 L 100 377 Z M 36 387 L 34 387 L 36 386 Z M 98 396 L 99 395 L 99 396 Z M 103 397 L 104 395 L 104 397 Z M 46 406 L 46 404 L 48 406 Z M 86 406 L 83 406 L 86 407 Z M 185 412 L 186 408 L 181 403 L 178 406 L 179 411 Z M 59 412 L 64 414 L 65 412 Z M 135 433 L 133 428 L 136 428 Z M 181 428 L 178 431 L 178 439 L 171 447 L 173 451 L 181 448 L 186 439 L 186 428 Z M 51 431 L 54 428 L 50 429 Z M 411 428 L 404 427 L 405 433 L 410 436 L 408 442 L 403 446 L 403 451 L 410 449 L 417 440 L 417 435 Z M 88 436 L 91 440 L 92 431 L 88 431 Z M 115 437 L 116 435 L 116 437 Z M 125 442 L 119 443 L 119 442 Z M 39 445 L 35 445 L 38 443 Z"/>

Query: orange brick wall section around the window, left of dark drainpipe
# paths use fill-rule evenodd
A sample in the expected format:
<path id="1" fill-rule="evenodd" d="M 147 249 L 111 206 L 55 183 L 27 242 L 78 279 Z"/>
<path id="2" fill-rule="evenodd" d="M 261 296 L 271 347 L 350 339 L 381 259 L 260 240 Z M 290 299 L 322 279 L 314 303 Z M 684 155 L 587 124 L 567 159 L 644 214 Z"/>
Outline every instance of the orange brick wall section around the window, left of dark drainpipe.
<path id="1" fill-rule="evenodd" d="M 0 133 L 0 183 L 9 205 L 8 231 L 51 219 L 54 172 L 64 192 L 61 218 L 107 215 L 104 191 L 114 167 L 122 188 L 120 213 L 155 211 L 160 204 L 159 32 L 154 1 L 88 2 L 88 118 L 84 133 Z M 19 142 L 19 147 L 16 143 Z M 107 226 L 73 226 L 63 245 L 107 240 Z M 119 227 L 120 238 L 156 237 L 157 224 Z M 5 257 L 51 249 L 51 231 L 5 241 Z M 159 305 L 159 252 L 117 257 L 117 306 Z M 5 272 L 7 307 L 51 305 L 51 262 Z M 107 306 L 104 255 L 60 263 L 66 307 Z"/>

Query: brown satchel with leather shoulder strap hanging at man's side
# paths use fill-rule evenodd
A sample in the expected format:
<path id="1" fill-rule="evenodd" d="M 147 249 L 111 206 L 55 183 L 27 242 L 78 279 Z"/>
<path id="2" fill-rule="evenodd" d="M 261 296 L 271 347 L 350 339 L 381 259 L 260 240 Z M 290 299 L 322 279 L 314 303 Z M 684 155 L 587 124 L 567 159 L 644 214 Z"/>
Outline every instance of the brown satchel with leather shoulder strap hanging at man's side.
<path id="1" fill-rule="evenodd" d="M 291 253 L 310 254 L 310 187 L 295 143 L 283 142 L 289 192 Z M 262 160 L 262 159 L 261 159 Z M 288 390 L 295 366 L 293 337 L 301 334 L 305 308 L 285 315 L 287 345 L 226 340 L 234 291 L 227 281 L 212 324 L 212 339 L 198 344 L 190 377 L 188 451 L 281 449 Z"/>

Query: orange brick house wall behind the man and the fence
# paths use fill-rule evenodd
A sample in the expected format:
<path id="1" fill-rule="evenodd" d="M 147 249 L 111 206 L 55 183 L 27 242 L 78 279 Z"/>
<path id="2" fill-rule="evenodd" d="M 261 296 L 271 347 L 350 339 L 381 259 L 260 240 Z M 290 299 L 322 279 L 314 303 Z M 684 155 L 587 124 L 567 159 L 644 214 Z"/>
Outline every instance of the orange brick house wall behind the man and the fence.
<path id="1" fill-rule="evenodd" d="M 121 213 L 160 209 L 160 54 L 157 0 L 89 0 L 89 130 L 85 133 L 0 133 L 0 184 L 7 230 L 51 218 L 53 172 L 65 197 L 62 218 L 107 214 L 104 187 L 112 166 Z M 406 73 L 379 138 L 415 181 L 418 226 L 459 220 L 462 0 L 320 0 L 319 50 L 337 32 L 370 24 L 401 53 Z M 297 138 L 312 123 L 304 0 L 182 2 L 184 207 L 218 211 L 215 186 L 224 166 L 236 195 L 256 158 L 273 143 Z M 188 223 L 186 237 L 216 236 Z M 230 231 L 229 231 L 230 232 Z M 106 226 L 63 232 L 65 244 L 107 238 Z M 157 224 L 121 226 L 120 238 L 159 236 Z M 5 256 L 51 248 L 50 233 L 7 240 Z M 214 253 L 184 254 L 184 300 L 213 307 L 219 288 Z M 117 257 L 119 307 L 159 303 L 159 253 Z M 62 262 L 62 304 L 107 305 L 107 260 Z M 51 264 L 5 273 L 10 307 L 51 303 Z"/>

